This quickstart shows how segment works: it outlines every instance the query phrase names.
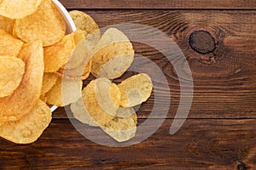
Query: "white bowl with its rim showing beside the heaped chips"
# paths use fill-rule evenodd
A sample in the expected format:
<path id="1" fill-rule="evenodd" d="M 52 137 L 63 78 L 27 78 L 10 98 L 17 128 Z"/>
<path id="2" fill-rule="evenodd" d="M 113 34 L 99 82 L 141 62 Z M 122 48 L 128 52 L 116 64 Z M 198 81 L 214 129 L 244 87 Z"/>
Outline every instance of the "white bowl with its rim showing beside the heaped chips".
<path id="1" fill-rule="evenodd" d="M 52 0 L 52 2 L 55 3 L 56 7 L 59 9 L 59 12 L 61 13 L 62 18 L 66 22 L 67 34 L 70 34 L 73 31 L 76 31 L 77 28 L 76 28 L 75 24 L 73 23 L 73 20 L 72 20 L 71 16 L 68 14 L 67 9 L 57 0 Z M 50 111 L 53 112 L 57 108 L 58 108 L 58 106 L 53 105 L 50 108 Z"/>

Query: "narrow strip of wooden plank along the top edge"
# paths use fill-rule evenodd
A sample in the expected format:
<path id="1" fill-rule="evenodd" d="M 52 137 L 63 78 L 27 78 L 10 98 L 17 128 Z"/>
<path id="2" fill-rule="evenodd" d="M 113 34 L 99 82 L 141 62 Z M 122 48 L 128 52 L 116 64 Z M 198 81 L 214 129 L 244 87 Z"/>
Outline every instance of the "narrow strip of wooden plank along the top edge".
<path id="1" fill-rule="evenodd" d="M 60 0 L 66 8 L 256 8 L 255 0 Z"/>

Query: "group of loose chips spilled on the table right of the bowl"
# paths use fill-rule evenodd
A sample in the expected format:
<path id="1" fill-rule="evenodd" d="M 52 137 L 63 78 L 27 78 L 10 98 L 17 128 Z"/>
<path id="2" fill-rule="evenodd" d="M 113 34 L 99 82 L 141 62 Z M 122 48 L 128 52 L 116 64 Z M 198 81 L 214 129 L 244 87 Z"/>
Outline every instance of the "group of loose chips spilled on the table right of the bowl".
<path id="1" fill-rule="evenodd" d="M 77 28 L 91 37 L 84 40 L 84 45 L 79 44 L 74 50 L 78 54 L 84 54 L 86 49 L 84 59 L 73 53 L 66 69 L 76 67 L 81 72 L 83 67 L 79 68 L 80 63 L 91 60 L 90 72 L 96 77 L 96 80 L 91 81 L 82 90 L 81 97 L 71 104 L 73 116 L 84 124 L 101 127 L 118 142 L 127 141 L 133 138 L 137 131 L 137 114 L 133 106 L 142 104 L 150 97 L 153 88 L 151 78 L 141 73 L 118 85 L 111 82 L 110 80 L 121 77 L 131 66 L 134 59 L 131 42 L 123 32 L 115 28 L 109 28 L 99 39 L 100 36 L 96 33 L 99 32 L 98 27 L 89 15 L 80 11 L 71 11 L 70 14 Z M 90 42 L 91 39 L 98 42 L 93 48 L 88 45 L 86 47 L 86 41 Z M 65 72 L 66 70 L 64 77 Z"/>

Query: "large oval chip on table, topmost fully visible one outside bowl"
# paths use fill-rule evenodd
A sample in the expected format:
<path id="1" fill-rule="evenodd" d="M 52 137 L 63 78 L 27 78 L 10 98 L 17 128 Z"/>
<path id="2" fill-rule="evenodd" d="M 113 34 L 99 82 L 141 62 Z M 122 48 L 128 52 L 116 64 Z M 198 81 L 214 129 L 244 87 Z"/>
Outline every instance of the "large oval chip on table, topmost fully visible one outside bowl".
<path id="1" fill-rule="evenodd" d="M 116 36 L 114 37 L 114 32 Z M 111 39 L 109 41 L 108 39 Z M 121 77 L 131 66 L 134 50 L 124 33 L 117 29 L 109 29 L 96 45 L 92 57 L 91 73 L 94 77 Z"/>

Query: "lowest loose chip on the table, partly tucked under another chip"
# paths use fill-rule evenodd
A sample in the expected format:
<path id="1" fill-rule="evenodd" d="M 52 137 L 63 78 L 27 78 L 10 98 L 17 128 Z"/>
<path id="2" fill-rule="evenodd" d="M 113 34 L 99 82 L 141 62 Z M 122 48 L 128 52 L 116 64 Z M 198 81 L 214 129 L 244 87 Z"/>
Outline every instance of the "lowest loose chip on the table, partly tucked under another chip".
<path id="1" fill-rule="evenodd" d="M 102 126 L 102 130 L 118 142 L 132 139 L 137 131 L 137 115 L 132 114 L 125 118 L 115 117 Z"/>

